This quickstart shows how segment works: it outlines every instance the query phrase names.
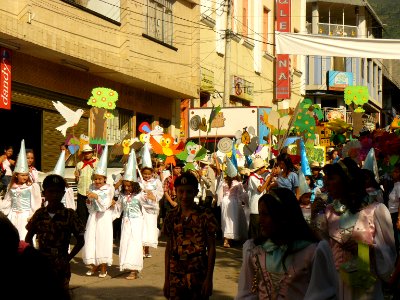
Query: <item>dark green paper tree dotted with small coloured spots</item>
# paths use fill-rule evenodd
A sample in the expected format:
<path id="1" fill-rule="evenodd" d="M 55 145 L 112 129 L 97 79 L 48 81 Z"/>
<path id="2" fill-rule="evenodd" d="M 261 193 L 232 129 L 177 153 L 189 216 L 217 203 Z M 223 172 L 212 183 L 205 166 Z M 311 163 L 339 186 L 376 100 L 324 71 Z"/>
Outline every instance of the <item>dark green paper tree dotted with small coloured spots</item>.
<path id="1" fill-rule="evenodd" d="M 300 103 L 299 112 L 294 122 L 296 134 L 304 136 L 305 140 L 315 140 L 316 119 L 321 120 L 323 116 L 318 104 L 313 104 L 310 99 L 304 99 Z"/>

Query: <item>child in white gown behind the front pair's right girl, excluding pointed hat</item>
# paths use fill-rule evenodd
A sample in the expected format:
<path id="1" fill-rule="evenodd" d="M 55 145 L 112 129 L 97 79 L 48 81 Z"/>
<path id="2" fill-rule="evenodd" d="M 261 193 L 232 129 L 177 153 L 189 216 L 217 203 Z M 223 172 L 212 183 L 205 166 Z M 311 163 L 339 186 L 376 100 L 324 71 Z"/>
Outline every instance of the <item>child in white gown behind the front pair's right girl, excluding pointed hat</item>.
<path id="1" fill-rule="evenodd" d="M 157 216 L 160 210 L 158 202 L 164 195 L 162 183 L 154 178 L 153 169 L 150 167 L 142 168 L 143 180 L 140 186 L 145 194 L 145 203 L 143 204 L 143 246 L 145 257 L 151 257 L 149 247 L 157 248 L 158 228 Z"/>

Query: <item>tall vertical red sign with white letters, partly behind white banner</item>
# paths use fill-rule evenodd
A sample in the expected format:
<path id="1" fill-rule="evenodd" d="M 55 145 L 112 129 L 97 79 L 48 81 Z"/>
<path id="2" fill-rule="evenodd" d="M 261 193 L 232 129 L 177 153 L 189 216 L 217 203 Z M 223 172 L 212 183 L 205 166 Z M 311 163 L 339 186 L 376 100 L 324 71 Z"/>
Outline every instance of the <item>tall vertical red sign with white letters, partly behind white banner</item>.
<path id="1" fill-rule="evenodd" d="M 290 32 L 291 0 L 276 0 L 277 30 Z M 276 55 L 276 99 L 290 99 L 290 59 L 288 54 Z"/>

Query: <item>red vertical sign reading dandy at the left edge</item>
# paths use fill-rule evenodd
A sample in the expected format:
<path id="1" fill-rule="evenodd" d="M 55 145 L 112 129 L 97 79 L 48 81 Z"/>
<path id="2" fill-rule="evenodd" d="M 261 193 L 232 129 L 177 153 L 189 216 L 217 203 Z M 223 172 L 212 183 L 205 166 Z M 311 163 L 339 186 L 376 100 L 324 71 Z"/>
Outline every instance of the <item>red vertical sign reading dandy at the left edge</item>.
<path id="1" fill-rule="evenodd" d="M 11 50 L 0 48 L 0 108 L 11 109 Z"/>

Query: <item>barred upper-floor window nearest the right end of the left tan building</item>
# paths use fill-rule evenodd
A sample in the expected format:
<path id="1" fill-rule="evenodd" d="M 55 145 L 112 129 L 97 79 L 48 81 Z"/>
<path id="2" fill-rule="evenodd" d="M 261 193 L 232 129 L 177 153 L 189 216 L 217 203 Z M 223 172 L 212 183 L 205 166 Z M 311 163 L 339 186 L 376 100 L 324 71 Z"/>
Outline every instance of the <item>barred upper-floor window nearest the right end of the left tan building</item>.
<path id="1" fill-rule="evenodd" d="M 172 1 L 147 0 L 146 29 L 148 36 L 168 45 L 172 45 Z"/>

